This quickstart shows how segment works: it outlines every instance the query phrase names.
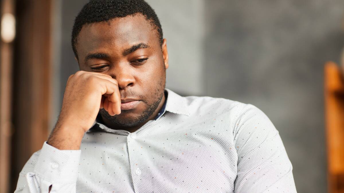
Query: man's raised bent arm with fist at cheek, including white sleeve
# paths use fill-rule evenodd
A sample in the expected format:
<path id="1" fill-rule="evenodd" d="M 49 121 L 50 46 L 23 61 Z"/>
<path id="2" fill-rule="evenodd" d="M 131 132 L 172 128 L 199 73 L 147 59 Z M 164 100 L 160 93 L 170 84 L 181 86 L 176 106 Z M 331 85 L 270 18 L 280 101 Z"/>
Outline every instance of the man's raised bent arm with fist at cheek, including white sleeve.
<path id="1" fill-rule="evenodd" d="M 78 71 L 69 77 L 58 121 L 48 141 L 19 174 L 15 192 L 75 192 L 80 144 L 99 108 L 119 114 L 120 94 L 111 76 Z"/>

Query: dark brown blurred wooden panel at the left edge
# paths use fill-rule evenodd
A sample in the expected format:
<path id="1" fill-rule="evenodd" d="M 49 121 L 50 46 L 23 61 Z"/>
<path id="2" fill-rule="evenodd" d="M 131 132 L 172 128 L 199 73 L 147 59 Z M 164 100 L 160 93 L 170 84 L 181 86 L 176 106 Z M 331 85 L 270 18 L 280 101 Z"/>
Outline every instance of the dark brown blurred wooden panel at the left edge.
<path id="1" fill-rule="evenodd" d="M 16 5 L 12 190 L 26 161 L 48 136 L 51 84 L 51 0 Z"/>

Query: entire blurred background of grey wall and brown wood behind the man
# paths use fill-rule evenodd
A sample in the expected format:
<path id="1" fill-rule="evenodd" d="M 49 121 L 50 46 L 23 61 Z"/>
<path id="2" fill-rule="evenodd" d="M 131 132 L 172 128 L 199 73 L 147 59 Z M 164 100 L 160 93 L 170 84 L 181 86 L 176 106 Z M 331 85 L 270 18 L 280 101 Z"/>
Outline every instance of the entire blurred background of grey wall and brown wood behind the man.
<path id="1" fill-rule="evenodd" d="M 257 106 L 280 133 L 298 192 L 344 191 L 343 0 L 147 1 L 167 39 L 167 88 Z M 71 30 L 88 0 L 0 2 L 0 192 L 7 193 L 47 139 L 67 78 L 78 71 Z M 338 66 L 326 71 L 327 61 Z"/>

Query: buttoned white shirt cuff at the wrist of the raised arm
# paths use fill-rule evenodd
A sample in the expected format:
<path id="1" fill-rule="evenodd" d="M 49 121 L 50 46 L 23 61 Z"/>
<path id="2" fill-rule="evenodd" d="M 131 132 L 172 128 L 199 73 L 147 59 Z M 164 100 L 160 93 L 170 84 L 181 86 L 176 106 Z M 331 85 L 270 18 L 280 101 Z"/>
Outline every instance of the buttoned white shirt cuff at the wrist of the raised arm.
<path id="1" fill-rule="evenodd" d="M 33 173 L 51 183 L 75 183 L 80 156 L 81 150 L 60 150 L 45 141 Z"/>

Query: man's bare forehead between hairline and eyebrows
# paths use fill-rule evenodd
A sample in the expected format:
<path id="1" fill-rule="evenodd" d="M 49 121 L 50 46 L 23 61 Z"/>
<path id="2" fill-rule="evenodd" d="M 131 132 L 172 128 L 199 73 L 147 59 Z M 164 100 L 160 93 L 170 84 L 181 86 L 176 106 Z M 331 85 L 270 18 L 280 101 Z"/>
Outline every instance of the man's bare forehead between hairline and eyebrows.
<path id="1" fill-rule="evenodd" d="M 151 46 L 159 43 L 157 31 L 142 14 L 84 25 L 77 37 L 76 49 L 81 57 L 110 48 L 122 51 L 138 43 Z"/>

